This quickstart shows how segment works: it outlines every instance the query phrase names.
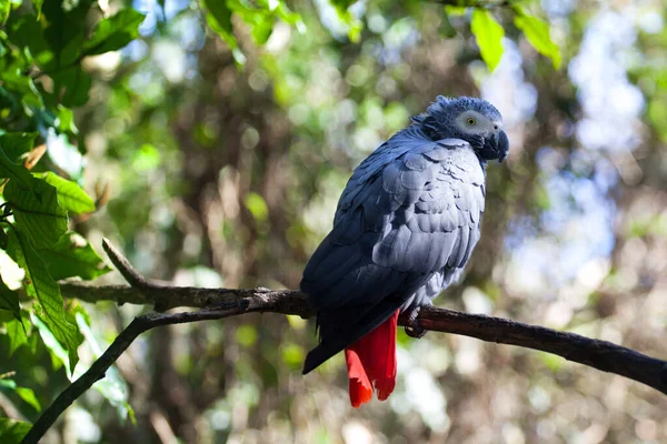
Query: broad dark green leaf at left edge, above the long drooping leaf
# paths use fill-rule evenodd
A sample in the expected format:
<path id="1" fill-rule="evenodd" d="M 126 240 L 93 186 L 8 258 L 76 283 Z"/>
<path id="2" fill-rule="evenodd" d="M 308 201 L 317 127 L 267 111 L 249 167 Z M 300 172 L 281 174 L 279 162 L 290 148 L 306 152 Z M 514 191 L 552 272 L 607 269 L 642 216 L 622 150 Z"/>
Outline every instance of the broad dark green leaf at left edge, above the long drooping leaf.
<path id="1" fill-rule="evenodd" d="M 41 179 L 31 179 L 33 192 L 21 182 L 10 180 L 4 186 L 4 200 L 11 204 L 17 226 L 32 244 L 38 249 L 49 248 L 67 232 L 67 212 L 58 203 L 54 186 Z"/>

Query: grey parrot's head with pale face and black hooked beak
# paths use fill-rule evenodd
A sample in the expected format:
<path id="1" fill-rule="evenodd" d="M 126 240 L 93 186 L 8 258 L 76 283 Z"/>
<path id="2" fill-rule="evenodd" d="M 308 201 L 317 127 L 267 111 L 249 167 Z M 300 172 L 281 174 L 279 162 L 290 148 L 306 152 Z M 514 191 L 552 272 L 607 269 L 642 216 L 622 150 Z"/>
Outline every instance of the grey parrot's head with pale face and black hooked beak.
<path id="1" fill-rule="evenodd" d="M 502 115 L 486 100 L 438 95 L 426 114 L 412 120 L 437 139 L 465 140 L 482 160 L 502 162 L 507 158 L 509 139 L 502 129 Z"/>

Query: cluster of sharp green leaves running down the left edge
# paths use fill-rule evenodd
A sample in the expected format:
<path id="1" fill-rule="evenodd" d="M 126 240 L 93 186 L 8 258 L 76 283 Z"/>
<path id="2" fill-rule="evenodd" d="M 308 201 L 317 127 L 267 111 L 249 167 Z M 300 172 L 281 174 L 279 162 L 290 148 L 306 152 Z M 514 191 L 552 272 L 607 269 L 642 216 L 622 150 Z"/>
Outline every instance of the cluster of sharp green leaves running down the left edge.
<path id="1" fill-rule="evenodd" d="M 32 8 L 0 1 L 0 249 L 23 272 L 22 287 L 10 289 L 6 282 L 16 281 L 16 273 L 1 270 L 0 335 L 9 340 L 9 355 L 27 346 L 34 352 L 41 339 L 53 363 L 64 363 L 70 372 L 83 335 L 57 280 L 91 280 L 109 268 L 86 239 L 68 233 L 71 215 L 97 208 L 80 175 L 63 176 L 71 169 L 62 165 L 54 143 L 77 150 L 71 107 L 88 102 L 93 81 L 83 59 L 127 46 L 139 36 L 145 18 L 132 8 L 108 18 L 96 11 L 99 4 L 91 0 L 32 1 Z M 61 169 L 49 171 L 54 164 Z M 12 370 L 4 359 L 0 362 L 0 373 Z M 40 408 L 32 387 L 0 379 L 0 389 Z M 0 421 L 2 443 L 18 442 L 29 427 Z"/>

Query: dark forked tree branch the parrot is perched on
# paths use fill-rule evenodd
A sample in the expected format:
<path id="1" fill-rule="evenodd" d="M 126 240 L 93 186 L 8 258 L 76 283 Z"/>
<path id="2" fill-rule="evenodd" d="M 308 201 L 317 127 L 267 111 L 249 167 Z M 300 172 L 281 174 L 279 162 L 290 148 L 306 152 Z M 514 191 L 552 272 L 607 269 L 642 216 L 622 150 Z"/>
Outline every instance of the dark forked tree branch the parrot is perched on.
<path id="1" fill-rule="evenodd" d="M 93 286 L 77 282 L 61 283 L 66 297 L 86 302 L 113 301 L 118 304 L 152 304 L 157 312 L 175 307 L 197 307 L 185 313 L 149 313 L 136 317 L 92 366 L 67 387 L 34 423 L 22 443 L 37 443 L 58 416 L 92 384 L 104 377 L 106 371 L 143 332 L 163 325 L 219 320 L 253 312 L 271 312 L 311 317 L 306 294 L 293 290 L 268 289 L 200 289 L 169 286 L 146 280 L 128 260 L 104 240 L 104 250 L 130 286 Z M 471 336 L 486 342 L 539 350 L 578 362 L 604 372 L 615 373 L 644 383 L 667 394 L 667 362 L 647 356 L 620 345 L 529 325 L 501 317 L 469 314 L 446 309 L 425 307 L 419 312 L 419 326 L 437 332 Z M 399 317 L 406 325 L 407 319 Z"/>

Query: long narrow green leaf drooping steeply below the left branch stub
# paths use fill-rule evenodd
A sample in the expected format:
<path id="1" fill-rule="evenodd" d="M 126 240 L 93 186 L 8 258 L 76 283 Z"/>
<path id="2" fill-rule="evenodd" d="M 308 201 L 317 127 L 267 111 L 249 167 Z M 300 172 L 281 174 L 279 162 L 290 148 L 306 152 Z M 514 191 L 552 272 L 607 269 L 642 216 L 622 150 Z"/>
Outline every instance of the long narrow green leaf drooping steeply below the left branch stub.
<path id="1" fill-rule="evenodd" d="M 46 324 L 58 343 L 67 350 L 69 367 L 74 369 L 79 360 L 77 349 L 83 341 L 83 336 L 79 329 L 66 319 L 60 287 L 49 274 L 47 265 L 30 245 L 28 238 L 20 231 L 10 231 L 7 252 L 26 271 L 23 280 L 26 293 L 39 301 L 39 304 L 34 305 L 38 317 Z"/>

